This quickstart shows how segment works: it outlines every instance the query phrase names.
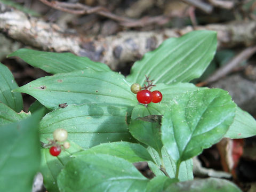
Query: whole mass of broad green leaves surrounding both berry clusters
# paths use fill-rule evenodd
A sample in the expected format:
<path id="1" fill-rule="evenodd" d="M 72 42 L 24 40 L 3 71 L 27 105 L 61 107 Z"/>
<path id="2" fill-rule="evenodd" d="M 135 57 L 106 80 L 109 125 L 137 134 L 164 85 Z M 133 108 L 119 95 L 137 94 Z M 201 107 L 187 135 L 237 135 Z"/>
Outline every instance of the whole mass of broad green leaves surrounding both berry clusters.
<path id="1" fill-rule="evenodd" d="M 193 180 L 192 157 L 223 137 L 256 134 L 253 117 L 237 107 L 226 91 L 188 83 L 202 75 L 216 47 L 214 31 L 167 39 L 135 62 L 126 78 L 102 63 L 71 53 L 20 49 L 10 54 L 54 74 L 18 87 L 10 71 L 0 65 L 1 75 L 8 75 L 3 78 L 7 83 L 0 87 L 1 91 L 5 87 L 0 92 L 1 146 L 11 145 L 13 140 L 24 146 L 19 151 L 24 169 L 40 158 L 41 150 L 40 168 L 34 163 L 34 169 L 27 171 L 27 191 L 38 169 L 49 191 L 241 191 L 227 180 Z M 152 91 L 159 90 L 163 100 L 144 106 L 130 89 L 148 77 L 156 85 Z M 37 99 L 30 107 L 32 115 L 15 112 L 22 108 L 20 92 Z M 50 110 L 47 114 L 37 112 L 46 108 Z M 43 118 L 39 121 L 38 116 Z M 23 128 L 15 129 L 17 125 Z M 58 157 L 51 156 L 49 149 L 31 145 L 39 142 L 38 137 L 46 143 L 59 128 L 67 130 L 70 147 Z M 11 136 L 18 131 L 26 139 Z M 7 153 L 0 154 L 0 165 L 10 164 L 4 169 L 0 166 L 0 184 L 6 182 L 0 185 L 1 191 L 10 189 L 6 178 L 14 175 L 3 176 L 6 170 L 12 169 L 12 163 L 21 166 L 20 159 L 14 158 L 18 153 L 14 147 Z M 132 164 L 143 161 L 155 173 L 154 179 L 145 178 Z M 15 171 L 23 174 L 24 170 Z"/>

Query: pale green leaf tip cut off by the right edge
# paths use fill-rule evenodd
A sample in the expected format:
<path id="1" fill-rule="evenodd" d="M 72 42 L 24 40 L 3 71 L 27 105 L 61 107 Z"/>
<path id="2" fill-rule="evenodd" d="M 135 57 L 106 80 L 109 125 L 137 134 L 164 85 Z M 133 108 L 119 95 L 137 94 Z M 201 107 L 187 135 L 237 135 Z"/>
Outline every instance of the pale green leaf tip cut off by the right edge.
<path id="1" fill-rule="evenodd" d="M 236 107 L 234 122 L 224 137 L 231 139 L 242 139 L 256 135 L 256 121 L 246 111 Z"/>

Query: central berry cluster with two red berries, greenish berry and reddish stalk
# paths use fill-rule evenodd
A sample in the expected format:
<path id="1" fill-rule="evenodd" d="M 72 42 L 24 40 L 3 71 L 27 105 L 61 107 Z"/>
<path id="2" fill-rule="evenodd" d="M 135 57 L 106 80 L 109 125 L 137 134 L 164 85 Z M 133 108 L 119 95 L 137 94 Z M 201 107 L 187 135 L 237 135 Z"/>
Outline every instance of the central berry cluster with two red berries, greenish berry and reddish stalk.
<path id="1" fill-rule="evenodd" d="M 144 84 L 144 87 L 141 87 L 138 83 L 132 84 L 131 91 L 137 94 L 137 100 L 140 103 L 147 105 L 150 102 L 158 103 L 162 101 L 163 95 L 160 91 L 150 91 L 153 86 L 156 86 L 153 85 L 153 81 L 154 80 L 149 80 L 149 77 L 146 76 L 148 85 Z"/>

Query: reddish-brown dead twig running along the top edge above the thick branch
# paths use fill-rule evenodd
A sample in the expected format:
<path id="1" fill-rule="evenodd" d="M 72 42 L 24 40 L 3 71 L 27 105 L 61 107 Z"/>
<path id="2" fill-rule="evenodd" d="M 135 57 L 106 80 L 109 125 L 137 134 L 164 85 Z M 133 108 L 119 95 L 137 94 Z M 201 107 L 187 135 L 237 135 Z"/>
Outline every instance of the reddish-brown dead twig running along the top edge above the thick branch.
<path id="1" fill-rule="evenodd" d="M 151 25 L 151 24 L 164 25 L 171 18 L 171 16 L 165 17 L 164 15 L 159 15 L 156 17 L 144 17 L 142 19 L 136 20 L 136 19 L 126 18 L 126 17 L 116 15 L 114 13 L 111 13 L 109 10 L 107 10 L 105 7 L 102 7 L 102 6 L 90 7 L 81 3 L 65 3 L 65 2 L 58 2 L 58 1 L 49 2 L 47 0 L 39 0 L 39 1 L 52 7 L 53 9 L 57 9 L 60 11 L 71 13 L 71 14 L 95 13 L 103 17 L 112 19 L 114 21 L 118 21 L 120 25 L 125 27 L 142 27 L 142 26 Z"/>

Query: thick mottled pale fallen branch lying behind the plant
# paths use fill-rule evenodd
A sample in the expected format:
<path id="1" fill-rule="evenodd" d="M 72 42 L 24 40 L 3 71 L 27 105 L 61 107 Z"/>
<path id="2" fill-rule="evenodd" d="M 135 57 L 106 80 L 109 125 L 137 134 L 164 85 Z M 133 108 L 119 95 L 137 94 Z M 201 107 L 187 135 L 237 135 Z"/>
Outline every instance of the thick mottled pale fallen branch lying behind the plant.
<path id="1" fill-rule="evenodd" d="M 219 47 L 251 46 L 256 41 L 255 22 L 207 25 L 161 31 L 128 31 L 108 37 L 83 37 L 66 33 L 59 26 L 10 9 L 0 3 L 0 31 L 7 37 L 39 50 L 73 52 L 117 69 L 120 63 L 132 62 L 154 50 L 166 38 L 179 37 L 194 29 L 218 32 Z M 122 67 L 122 66 L 121 66 Z"/>

